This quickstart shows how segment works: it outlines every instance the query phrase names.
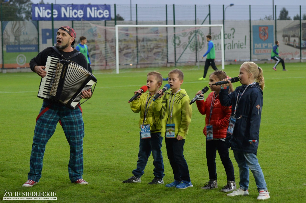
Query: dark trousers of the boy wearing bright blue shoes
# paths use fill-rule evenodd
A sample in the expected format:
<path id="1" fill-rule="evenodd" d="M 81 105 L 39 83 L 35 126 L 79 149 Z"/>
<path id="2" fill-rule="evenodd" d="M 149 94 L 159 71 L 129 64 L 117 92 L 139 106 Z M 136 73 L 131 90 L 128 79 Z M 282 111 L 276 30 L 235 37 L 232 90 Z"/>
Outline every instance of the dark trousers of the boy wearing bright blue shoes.
<path id="1" fill-rule="evenodd" d="M 183 155 L 185 139 L 165 138 L 166 149 L 174 180 L 190 182 L 188 165 Z"/>

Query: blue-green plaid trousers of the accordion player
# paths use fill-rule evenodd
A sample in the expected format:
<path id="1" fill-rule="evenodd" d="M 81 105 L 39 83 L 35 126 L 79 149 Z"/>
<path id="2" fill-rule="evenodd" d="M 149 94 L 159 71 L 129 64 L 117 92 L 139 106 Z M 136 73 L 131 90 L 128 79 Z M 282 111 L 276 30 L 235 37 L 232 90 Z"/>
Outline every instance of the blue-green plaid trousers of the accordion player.
<path id="1" fill-rule="evenodd" d="M 38 118 L 35 125 L 28 179 L 39 182 L 46 144 L 53 135 L 58 121 L 61 120 L 62 128 L 70 146 L 69 179 L 71 182 L 75 182 L 81 179 L 83 175 L 84 122 L 82 112 L 79 108 L 69 109 L 54 103 L 50 105 L 48 101 L 43 101 L 40 112 L 46 107 L 50 109 Z"/>

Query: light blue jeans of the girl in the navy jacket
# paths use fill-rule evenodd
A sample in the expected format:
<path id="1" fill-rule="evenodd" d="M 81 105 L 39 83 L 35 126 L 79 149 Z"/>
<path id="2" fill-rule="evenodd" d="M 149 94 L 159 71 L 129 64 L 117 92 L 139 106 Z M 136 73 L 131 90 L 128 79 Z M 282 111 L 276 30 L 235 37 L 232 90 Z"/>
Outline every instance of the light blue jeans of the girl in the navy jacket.
<path id="1" fill-rule="evenodd" d="M 242 190 L 248 190 L 248 183 L 250 181 L 249 169 L 251 169 L 255 178 L 257 190 L 267 190 L 267 183 L 263 177 L 263 171 L 260 168 L 256 155 L 238 151 L 233 151 L 233 153 L 239 167 L 240 188 Z"/>

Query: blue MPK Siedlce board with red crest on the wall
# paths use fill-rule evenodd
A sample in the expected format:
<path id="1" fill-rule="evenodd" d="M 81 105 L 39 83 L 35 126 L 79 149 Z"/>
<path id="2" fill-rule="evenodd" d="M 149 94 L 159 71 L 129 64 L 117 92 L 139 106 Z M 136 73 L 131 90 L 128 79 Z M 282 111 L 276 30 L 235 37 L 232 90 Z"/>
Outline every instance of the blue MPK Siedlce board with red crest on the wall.
<path id="1" fill-rule="evenodd" d="M 273 25 L 253 25 L 253 54 L 271 54 L 273 44 Z"/>

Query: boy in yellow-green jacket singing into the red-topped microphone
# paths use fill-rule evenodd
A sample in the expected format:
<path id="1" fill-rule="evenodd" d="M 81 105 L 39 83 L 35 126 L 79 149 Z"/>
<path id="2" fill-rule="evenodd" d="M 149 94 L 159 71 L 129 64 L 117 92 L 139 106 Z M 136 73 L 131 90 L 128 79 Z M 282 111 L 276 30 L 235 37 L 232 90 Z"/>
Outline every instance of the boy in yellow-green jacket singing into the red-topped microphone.
<path id="1" fill-rule="evenodd" d="M 134 113 L 140 112 L 139 128 L 140 128 L 140 142 L 137 168 L 132 171 L 133 176 L 123 181 L 123 183 L 140 183 L 140 177 L 144 174 L 144 168 L 147 164 L 148 158 L 152 152 L 154 165 L 154 179 L 148 183 L 163 184 L 164 177 L 164 163 L 162 159 L 162 138 L 161 135 L 161 114 L 160 111 L 152 110 L 153 98 L 156 92 L 162 85 L 162 75 L 159 72 L 149 72 L 147 74 L 148 92 L 141 94 L 131 103 L 131 109 Z M 141 90 L 134 92 L 141 93 Z"/>

